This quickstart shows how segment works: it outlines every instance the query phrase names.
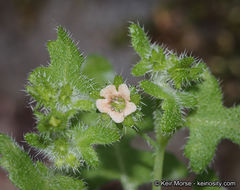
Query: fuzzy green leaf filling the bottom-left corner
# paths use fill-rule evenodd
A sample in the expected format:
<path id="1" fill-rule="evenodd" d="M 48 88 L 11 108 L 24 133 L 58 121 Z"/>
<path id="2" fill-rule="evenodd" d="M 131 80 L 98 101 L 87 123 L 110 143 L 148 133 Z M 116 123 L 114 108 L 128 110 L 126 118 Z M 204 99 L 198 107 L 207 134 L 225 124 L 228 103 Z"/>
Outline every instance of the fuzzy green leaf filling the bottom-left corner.
<path id="1" fill-rule="evenodd" d="M 41 162 L 33 163 L 8 136 L 0 134 L 0 165 L 9 172 L 9 179 L 21 190 L 83 190 L 81 180 L 53 172 Z"/>

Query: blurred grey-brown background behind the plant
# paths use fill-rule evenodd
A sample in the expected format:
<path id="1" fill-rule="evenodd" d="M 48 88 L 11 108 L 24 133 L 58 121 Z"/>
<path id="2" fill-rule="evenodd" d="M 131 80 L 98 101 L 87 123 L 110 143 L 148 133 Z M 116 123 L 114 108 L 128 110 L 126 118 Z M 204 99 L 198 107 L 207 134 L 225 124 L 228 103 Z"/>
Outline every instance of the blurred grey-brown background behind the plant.
<path id="1" fill-rule="evenodd" d="M 85 56 L 107 57 L 116 73 L 135 84 L 130 71 L 138 57 L 130 47 L 129 21 L 144 25 L 152 41 L 203 58 L 221 81 L 225 106 L 240 103 L 239 0 L 0 0 L 0 132 L 24 145 L 23 134 L 33 130 L 24 86 L 29 72 L 48 64 L 46 42 L 56 39 L 58 25 L 71 31 Z M 187 129 L 180 130 L 167 147 L 186 165 L 187 136 Z M 239 147 L 223 140 L 211 166 L 220 180 L 239 183 L 239 160 Z M 102 189 L 117 186 L 109 182 Z M 2 169 L 0 190 L 16 190 Z"/>

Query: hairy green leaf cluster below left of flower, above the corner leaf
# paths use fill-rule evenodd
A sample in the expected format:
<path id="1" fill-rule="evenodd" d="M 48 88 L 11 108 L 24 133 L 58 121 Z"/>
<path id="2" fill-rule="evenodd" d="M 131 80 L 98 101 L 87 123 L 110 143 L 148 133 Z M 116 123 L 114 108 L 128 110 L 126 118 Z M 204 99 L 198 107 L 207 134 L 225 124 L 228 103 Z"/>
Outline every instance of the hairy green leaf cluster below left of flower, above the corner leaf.
<path id="1" fill-rule="evenodd" d="M 98 115 L 90 114 L 91 120 L 96 120 Z M 119 130 L 116 126 L 103 121 L 99 121 L 98 125 L 94 122 L 91 127 L 76 121 L 75 126 L 65 129 L 64 133 L 45 132 L 39 135 L 35 133 L 25 135 L 25 140 L 47 155 L 57 168 L 73 170 L 77 170 L 83 162 L 90 167 L 97 167 L 99 161 L 93 145 L 112 144 L 119 139 Z"/>

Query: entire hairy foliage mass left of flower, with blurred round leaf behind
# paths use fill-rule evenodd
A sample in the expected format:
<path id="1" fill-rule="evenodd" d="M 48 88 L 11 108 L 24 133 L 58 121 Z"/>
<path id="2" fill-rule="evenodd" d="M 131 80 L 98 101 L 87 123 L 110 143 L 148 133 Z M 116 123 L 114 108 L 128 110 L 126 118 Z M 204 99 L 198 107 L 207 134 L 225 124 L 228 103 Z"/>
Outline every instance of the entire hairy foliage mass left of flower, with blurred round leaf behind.
<path id="1" fill-rule="evenodd" d="M 93 118 L 94 131 L 78 117 L 83 111 L 96 111 L 99 87 L 111 80 L 112 67 L 97 55 L 88 56 L 83 65 L 83 56 L 62 27 L 58 27 L 57 40 L 50 41 L 47 47 L 51 64 L 35 69 L 27 86 L 28 93 L 37 101 L 35 115 L 40 134 L 26 134 L 25 140 L 46 154 L 57 168 L 77 170 L 83 162 L 96 167 L 98 159 L 92 144 L 113 143 L 120 136 L 116 129 L 105 129 L 103 123 L 96 126 L 99 114 Z M 84 74 L 95 77 L 95 82 Z M 107 139 L 107 134 L 113 135 L 112 139 Z"/>

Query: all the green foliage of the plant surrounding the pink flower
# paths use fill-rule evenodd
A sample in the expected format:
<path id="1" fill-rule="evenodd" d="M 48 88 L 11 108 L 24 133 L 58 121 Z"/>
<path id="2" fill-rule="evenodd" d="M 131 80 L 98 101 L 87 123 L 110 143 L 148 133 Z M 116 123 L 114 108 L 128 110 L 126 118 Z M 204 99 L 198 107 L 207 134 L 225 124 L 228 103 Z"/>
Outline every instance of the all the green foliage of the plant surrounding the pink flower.
<path id="1" fill-rule="evenodd" d="M 136 87 L 129 87 L 130 102 L 137 109 L 130 115 L 121 113 L 127 117 L 116 124 L 108 113 L 99 113 L 96 100 L 103 99 L 100 90 L 109 83 L 118 90 L 124 83 L 122 77 L 114 78 L 113 68 L 104 57 L 90 55 L 83 64 L 85 59 L 69 34 L 58 27 L 57 40 L 47 44 L 51 63 L 35 69 L 28 78 L 26 89 L 36 102 L 33 111 L 38 133 L 25 135 L 25 140 L 44 153 L 57 170 L 39 161 L 33 163 L 14 141 L 0 134 L 0 165 L 18 188 L 85 189 L 84 183 L 75 178 L 79 170 L 90 182 L 90 189 L 118 179 L 126 190 L 136 190 L 153 178 L 161 178 L 162 170 L 164 179 L 182 178 L 187 174 L 185 166 L 171 154 L 164 157 L 164 151 L 172 134 L 185 125 L 190 129 L 190 137 L 184 153 L 196 173 L 207 167 L 221 139 L 240 145 L 240 106 L 222 105 L 220 87 L 207 67 L 191 56 L 178 56 L 151 44 L 136 24 L 130 25 L 129 32 L 132 46 L 140 56 L 132 74 L 147 74 L 139 87 L 151 99 L 140 96 Z M 123 111 L 124 98 L 115 98 L 107 104 Z M 145 133 L 153 129 L 156 140 Z M 145 138 L 154 152 L 131 147 L 135 132 Z M 97 167 L 98 170 L 91 170 Z M 210 171 L 196 180 L 218 178 Z"/>

